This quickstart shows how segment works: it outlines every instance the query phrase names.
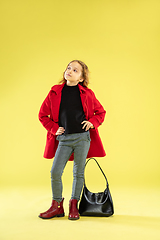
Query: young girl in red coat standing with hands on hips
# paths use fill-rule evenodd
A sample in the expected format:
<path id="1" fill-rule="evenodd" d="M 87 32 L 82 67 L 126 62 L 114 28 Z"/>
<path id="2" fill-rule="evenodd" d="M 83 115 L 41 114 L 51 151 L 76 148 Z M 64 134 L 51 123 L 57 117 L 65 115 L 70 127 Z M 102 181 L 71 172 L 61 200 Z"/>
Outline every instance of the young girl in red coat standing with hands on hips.
<path id="1" fill-rule="evenodd" d="M 87 87 L 88 74 L 85 63 L 71 61 L 63 80 L 51 88 L 39 111 L 39 120 L 48 131 L 44 157 L 54 157 L 51 169 L 53 200 L 51 207 L 40 213 L 39 217 L 43 219 L 65 215 L 61 176 L 67 161 L 73 159 L 68 218 L 79 219 L 77 203 L 83 187 L 86 158 L 106 155 L 97 129 L 104 121 L 106 111 Z"/>

